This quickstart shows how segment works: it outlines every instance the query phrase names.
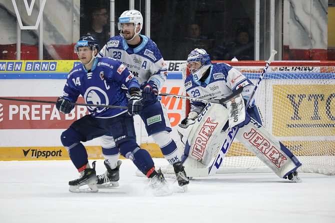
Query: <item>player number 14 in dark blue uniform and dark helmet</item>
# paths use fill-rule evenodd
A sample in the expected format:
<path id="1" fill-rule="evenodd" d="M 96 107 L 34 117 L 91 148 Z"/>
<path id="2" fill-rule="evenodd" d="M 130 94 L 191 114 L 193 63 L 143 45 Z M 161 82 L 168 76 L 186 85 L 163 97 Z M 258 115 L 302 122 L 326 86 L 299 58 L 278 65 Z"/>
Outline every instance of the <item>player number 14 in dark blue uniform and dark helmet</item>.
<path id="1" fill-rule="evenodd" d="M 68 183 L 69 191 L 74 193 L 98 191 L 95 161 L 90 167 L 87 152 L 81 142 L 105 134 L 112 136 L 111 141 L 122 156 L 131 159 L 144 175 L 151 178 L 151 185 L 157 183 L 164 185 L 166 181 L 161 173 L 154 170 L 149 153 L 140 149 L 136 143 L 132 115 L 140 114 L 143 100 L 139 95 L 137 80 L 118 60 L 96 57 L 98 41 L 95 36 L 80 37 L 76 42 L 75 52 L 81 64 L 68 73 L 63 96 L 57 99 L 56 108 L 61 113 L 68 114 L 73 109 L 70 103 L 76 102 L 78 96 L 82 95 L 87 104 L 127 106 L 128 109 L 88 106 L 90 114 L 74 121 L 61 134 L 61 142 L 80 173 L 78 179 Z M 127 93 L 131 95 L 129 100 L 121 90 L 122 84 L 127 87 Z M 114 170 L 110 170 L 115 173 L 115 177 L 118 177 L 119 165 L 120 162 Z M 86 188 L 82 189 L 81 186 Z"/>

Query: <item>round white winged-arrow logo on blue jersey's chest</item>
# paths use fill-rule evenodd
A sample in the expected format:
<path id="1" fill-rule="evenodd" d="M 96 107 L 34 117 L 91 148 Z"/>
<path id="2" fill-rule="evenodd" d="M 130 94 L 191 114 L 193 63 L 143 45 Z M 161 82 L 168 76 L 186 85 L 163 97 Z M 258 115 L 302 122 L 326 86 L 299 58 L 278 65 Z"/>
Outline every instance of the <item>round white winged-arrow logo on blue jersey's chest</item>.
<path id="1" fill-rule="evenodd" d="M 103 90 L 101 90 L 98 87 L 89 87 L 87 88 L 85 94 L 84 94 L 84 99 L 87 104 L 97 104 L 97 105 L 108 105 L 109 104 L 109 99 Z M 97 113 L 100 113 L 104 111 L 106 108 L 97 108 L 97 107 L 88 107 L 90 111 L 95 111 Z"/>

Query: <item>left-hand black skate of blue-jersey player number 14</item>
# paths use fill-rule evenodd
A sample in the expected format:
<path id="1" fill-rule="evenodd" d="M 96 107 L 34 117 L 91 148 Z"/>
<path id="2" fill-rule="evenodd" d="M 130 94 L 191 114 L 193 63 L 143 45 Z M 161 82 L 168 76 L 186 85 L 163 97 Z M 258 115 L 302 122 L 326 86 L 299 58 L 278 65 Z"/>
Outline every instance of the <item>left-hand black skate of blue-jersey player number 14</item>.
<path id="1" fill-rule="evenodd" d="M 72 193 L 92 193 L 98 192 L 96 187 L 95 161 L 91 169 L 84 169 L 80 172 L 80 177 L 74 181 L 69 181 L 69 192 Z"/>

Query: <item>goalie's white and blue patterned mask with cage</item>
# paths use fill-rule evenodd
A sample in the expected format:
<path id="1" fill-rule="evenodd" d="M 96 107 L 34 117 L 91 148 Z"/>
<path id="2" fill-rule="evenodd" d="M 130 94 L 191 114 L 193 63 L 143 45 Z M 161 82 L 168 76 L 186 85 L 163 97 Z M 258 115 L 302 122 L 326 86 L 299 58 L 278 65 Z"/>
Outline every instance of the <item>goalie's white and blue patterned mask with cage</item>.
<path id="1" fill-rule="evenodd" d="M 194 80 L 198 81 L 210 67 L 211 60 L 206 50 L 195 48 L 188 54 L 186 65 Z"/>

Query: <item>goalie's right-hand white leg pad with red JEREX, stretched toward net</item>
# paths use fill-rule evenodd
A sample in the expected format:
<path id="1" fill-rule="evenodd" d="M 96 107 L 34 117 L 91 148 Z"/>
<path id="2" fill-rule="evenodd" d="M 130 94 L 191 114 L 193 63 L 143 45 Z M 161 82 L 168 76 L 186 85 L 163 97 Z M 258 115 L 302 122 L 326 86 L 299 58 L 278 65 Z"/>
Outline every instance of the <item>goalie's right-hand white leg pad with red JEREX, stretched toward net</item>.
<path id="1" fill-rule="evenodd" d="M 280 178 L 286 179 L 289 173 L 301 166 L 284 145 L 252 118 L 238 130 L 236 139 Z"/>

